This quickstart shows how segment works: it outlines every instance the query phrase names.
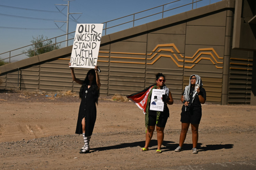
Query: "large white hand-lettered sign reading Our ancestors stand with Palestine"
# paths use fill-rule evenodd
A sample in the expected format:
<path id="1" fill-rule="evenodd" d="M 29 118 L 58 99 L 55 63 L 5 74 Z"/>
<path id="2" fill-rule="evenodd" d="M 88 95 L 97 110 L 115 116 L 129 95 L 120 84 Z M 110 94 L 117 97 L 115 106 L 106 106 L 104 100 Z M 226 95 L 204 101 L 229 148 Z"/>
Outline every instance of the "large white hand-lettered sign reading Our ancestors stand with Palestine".
<path id="1" fill-rule="evenodd" d="M 71 66 L 94 68 L 100 49 L 103 24 L 77 24 L 72 53 Z"/>

